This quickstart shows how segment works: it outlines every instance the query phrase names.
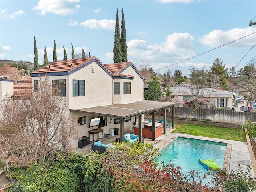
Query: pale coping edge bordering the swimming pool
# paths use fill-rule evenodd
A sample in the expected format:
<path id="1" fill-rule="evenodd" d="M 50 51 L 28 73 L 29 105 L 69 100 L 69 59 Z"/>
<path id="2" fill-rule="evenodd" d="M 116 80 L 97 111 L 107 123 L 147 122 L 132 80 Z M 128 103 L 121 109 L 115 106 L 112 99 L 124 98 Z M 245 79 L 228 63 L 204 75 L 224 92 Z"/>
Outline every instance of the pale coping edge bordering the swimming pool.
<path id="1" fill-rule="evenodd" d="M 222 139 L 217 139 L 217 138 L 207 138 L 207 137 L 202 137 L 202 136 L 193 136 L 193 135 L 183 135 L 182 134 L 182 136 L 174 135 L 170 140 L 166 141 L 162 146 L 158 147 L 159 150 L 160 151 L 163 150 L 168 144 L 170 144 L 172 141 L 174 141 L 178 137 L 185 137 L 185 138 L 198 139 L 198 140 L 204 140 L 204 141 L 213 141 L 213 142 L 220 142 L 220 143 L 227 144 L 222 170 L 225 169 L 229 172 L 232 142 L 224 141 Z"/>

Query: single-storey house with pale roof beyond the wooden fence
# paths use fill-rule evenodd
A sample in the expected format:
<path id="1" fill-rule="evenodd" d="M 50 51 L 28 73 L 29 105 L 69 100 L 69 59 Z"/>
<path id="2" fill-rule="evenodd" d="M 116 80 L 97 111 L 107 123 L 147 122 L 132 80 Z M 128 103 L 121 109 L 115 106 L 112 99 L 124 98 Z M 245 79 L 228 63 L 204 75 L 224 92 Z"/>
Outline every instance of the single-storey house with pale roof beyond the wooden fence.
<path id="1" fill-rule="evenodd" d="M 207 108 L 233 106 L 233 93 L 213 88 L 192 88 L 186 86 L 171 87 L 174 102 L 192 106 L 191 101 L 198 101 Z"/>

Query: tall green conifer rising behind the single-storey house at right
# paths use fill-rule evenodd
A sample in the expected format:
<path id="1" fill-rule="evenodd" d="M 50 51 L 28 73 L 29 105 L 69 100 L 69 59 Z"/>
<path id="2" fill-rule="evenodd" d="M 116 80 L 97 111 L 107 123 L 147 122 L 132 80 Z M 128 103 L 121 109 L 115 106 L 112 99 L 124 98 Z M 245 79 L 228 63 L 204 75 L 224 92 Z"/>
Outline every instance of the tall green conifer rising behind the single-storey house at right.
<path id="1" fill-rule="evenodd" d="M 216 58 L 208 71 L 208 84 L 217 87 L 217 84 L 220 84 L 222 90 L 226 90 L 228 88 L 228 68 L 225 68 L 225 65 L 222 64 L 219 58 Z"/>

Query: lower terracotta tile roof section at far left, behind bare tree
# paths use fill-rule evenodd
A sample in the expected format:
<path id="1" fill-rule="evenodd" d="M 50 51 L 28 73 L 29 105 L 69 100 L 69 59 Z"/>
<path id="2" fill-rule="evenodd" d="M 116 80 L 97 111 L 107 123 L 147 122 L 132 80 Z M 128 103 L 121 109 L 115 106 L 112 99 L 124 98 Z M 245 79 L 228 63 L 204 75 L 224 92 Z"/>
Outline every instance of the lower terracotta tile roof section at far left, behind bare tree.
<path id="1" fill-rule="evenodd" d="M 19 79 L 16 84 L 13 86 L 13 96 L 14 97 L 26 97 L 29 96 L 29 93 L 32 91 L 32 79 L 31 76 L 25 76 L 22 79 Z"/>

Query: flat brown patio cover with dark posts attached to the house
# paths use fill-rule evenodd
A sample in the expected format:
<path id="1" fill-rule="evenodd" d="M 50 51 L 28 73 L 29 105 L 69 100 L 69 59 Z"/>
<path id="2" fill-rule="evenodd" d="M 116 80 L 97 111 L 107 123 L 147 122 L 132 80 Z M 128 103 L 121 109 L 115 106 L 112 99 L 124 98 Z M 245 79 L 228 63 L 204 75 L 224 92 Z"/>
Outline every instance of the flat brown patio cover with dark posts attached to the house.
<path id="1" fill-rule="evenodd" d="M 138 128 L 139 128 L 139 140 L 142 141 L 142 115 L 146 113 L 152 113 L 152 141 L 155 138 L 155 121 L 156 121 L 156 111 L 164 110 L 163 115 L 163 127 L 164 134 L 166 133 L 166 110 L 172 110 L 172 128 L 175 126 L 174 121 L 174 107 L 176 103 L 174 102 L 159 102 L 159 101 L 137 101 L 128 104 L 110 104 L 106 106 L 97 106 L 82 109 L 70 109 L 72 112 L 82 112 L 95 114 L 99 116 L 110 116 L 113 118 L 118 118 L 120 120 L 120 142 L 124 141 L 124 121 L 126 118 L 133 118 L 138 116 Z"/>

